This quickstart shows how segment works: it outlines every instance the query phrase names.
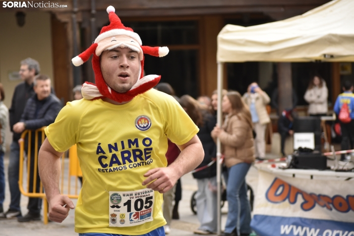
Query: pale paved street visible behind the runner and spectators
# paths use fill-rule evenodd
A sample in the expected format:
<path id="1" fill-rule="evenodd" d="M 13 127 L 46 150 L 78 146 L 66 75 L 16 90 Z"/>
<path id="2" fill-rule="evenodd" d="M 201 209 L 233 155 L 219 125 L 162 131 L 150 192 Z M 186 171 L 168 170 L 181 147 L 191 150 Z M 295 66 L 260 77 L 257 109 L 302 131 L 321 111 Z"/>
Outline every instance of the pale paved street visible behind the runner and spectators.
<path id="1" fill-rule="evenodd" d="M 5 170 L 7 171 L 8 157 L 5 156 Z M 7 173 L 5 173 L 7 177 Z M 247 182 L 256 190 L 257 185 L 257 170 L 253 167 L 247 175 Z M 182 200 L 179 203 L 180 220 L 173 220 L 171 225 L 170 236 L 192 236 L 193 231 L 198 228 L 198 219 L 190 209 L 190 199 L 194 191 L 197 190 L 196 180 L 191 174 L 182 177 Z M 4 210 L 6 211 L 9 205 L 9 189 L 6 179 L 6 196 L 4 201 Z M 76 203 L 76 200 L 73 200 Z M 27 213 L 28 198 L 21 197 L 22 214 Z M 227 217 L 227 203 L 222 209 L 222 229 L 225 226 Z M 43 215 L 43 214 L 42 214 Z M 51 222 L 44 225 L 43 221 L 18 223 L 17 220 L 0 220 L 0 236 L 77 236 L 74 232 L 74 211 L 70 211 L 68 218 L 61 224 Z"/>

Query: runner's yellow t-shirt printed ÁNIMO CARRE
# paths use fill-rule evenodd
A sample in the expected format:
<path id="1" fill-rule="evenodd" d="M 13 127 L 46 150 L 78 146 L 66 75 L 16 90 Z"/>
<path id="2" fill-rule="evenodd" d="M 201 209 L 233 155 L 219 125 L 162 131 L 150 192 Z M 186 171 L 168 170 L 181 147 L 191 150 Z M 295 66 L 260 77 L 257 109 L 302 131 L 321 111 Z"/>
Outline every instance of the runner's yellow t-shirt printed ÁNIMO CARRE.
<path id="1" fill-rule="evenodd" d="M 146 188 L 141 185 L 143 175 L 167 166 L 167 138 L 181 145 L 198 131 L 173 97 L 154 89 L 124 105 L 101 99 L 67 103 L 45 132 L 58 152 L 77 144 L 84 182 L 75 210 L 75 232 L 143 235 L 165 225 L 162 194 L 155 191 L 153 221 L 109 227 L 109 191 Z"/>

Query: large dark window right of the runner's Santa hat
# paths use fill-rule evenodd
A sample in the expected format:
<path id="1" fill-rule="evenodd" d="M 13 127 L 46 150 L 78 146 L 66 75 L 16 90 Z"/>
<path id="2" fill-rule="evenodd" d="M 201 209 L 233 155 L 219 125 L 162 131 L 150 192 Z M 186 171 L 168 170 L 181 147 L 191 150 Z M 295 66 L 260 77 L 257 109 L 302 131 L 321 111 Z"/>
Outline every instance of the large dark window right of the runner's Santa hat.
<path id="1" fill-rule="evenodd" d="M 161 82 L 171 84 L 178 97 L 198 96 L 198 21 L 123 21 L 123 24 L 139 34 L 143 45 L 170 49 L 163 58 L 145 55 L 146 74 L 161 75 Z"/>

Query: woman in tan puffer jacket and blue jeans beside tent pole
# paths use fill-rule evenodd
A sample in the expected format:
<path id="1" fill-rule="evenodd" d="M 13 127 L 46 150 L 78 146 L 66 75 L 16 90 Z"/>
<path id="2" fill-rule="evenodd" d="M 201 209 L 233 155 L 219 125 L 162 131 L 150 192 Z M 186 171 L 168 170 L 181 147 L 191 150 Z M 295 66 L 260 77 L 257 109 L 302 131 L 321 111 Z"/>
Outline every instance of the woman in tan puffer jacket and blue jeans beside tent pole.
<path id="1" fill-rule="evenodd" d="M 220 138 L 228 168 L 229 211 L 223 236 L 249 235 L 251 214 L 245 177 L 254 161 L 251 114 L 238 92 L 223 97 L 222 110 L 228 114 L 224 125 L 215 126 L 211 135 Z"/>

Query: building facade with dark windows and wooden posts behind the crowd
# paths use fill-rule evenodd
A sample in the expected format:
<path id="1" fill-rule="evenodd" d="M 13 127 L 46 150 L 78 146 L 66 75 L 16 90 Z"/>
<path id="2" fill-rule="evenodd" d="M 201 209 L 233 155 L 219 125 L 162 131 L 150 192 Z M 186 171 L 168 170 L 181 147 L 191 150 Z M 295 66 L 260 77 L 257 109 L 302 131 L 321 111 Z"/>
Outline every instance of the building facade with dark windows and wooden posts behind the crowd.
<path id="1" fill-rule="evenodd" d="M 44 1 L 33 1 L 44 2 Z M 42 72 L 54 83 L 65 103 L 73 99 L 72 88 L 84 81 L 94 82 L 90 60 L 74 67 L 71 58 L 87 49 L 109 24 L 106 8 L 113 5 L 125 26 L 133 28 L 149 46 L 168 46 L 162 59 L 146 56 L 147 74 L 161 74 L 177 96 L 210 96 L 217 87 L 217 35 L 226 24 L 251 26 L 302 14 L 328 0 L 58 0 L 67 7 L 0 8 L 0 82 L 5 86 L 5 104 L 19 80 L 11 73 L 21 59 L 37 59 Z M 23 12 L 19 26 L 17 12 Z M 277 63 L 245 62 L 225 64 L 224 86 L 246 91 L 256 81 L 271 96 L 277 88 Z M 303 94 L 311 75 L 320 73 L 329 88 L 329 102 L 341 92 L 340 82 L 353 78 L 341 75 L 340 63 L 292 63 L 292 87 L 298 105 L 306 105 Z M 350 67 L 352 64 L 350 63 Z"/>

